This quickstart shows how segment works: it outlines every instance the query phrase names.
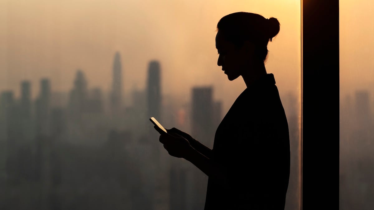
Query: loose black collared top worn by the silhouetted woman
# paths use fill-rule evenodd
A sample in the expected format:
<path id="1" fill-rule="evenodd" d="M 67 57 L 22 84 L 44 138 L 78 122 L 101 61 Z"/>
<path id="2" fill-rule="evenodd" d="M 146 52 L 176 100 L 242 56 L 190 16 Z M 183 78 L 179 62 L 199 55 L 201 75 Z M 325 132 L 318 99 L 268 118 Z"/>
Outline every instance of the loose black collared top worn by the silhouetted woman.
<path id="1" fill-rule="evenodd" d="M 273 74 L 238 96 L 217 128 L 211 158 L 227 179 L 209 177 L 205 210 L 284 210 L 289 134 Z"/>

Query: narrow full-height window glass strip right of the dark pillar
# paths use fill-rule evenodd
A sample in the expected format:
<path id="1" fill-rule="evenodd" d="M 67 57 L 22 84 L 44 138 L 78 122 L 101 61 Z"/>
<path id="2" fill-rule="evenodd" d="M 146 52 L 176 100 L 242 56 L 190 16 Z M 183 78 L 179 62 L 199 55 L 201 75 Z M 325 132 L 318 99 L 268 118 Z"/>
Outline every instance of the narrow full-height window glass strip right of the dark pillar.
<path id="1" fill-rule="evenodd" d="M 339 1 L 341 210 L 374 207 L 373 7 Z"/>

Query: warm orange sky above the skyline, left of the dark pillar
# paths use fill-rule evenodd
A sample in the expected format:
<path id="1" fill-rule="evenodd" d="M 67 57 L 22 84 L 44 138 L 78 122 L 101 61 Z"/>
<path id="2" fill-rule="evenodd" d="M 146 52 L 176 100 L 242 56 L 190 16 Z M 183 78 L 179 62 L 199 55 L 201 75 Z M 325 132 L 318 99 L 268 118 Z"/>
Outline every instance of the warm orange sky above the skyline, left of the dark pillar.
<path id="1" fill-rule="evenodd" d="M 216 99 L 227 98 L 227 111 L 245 84 L 228 81 L 217 66 L 215 30 L 221 17 L 238 11 L 278 18 L 281 31 L 269 43 L 267 71 L 281 94 L 300 91 L 298 0 L 0 0 L 0 8 L 0 90 L 16 96 L 26 79 L 35 96 L 43 77 L 53 91 L 68 91 L 77 68 L 90 88 L 109 90 L 119 51 L 126 93 L 144 88 L 148 61 L 158 59 L 164 94 L 189 100 L 191 86 L 213 85 Z"/>

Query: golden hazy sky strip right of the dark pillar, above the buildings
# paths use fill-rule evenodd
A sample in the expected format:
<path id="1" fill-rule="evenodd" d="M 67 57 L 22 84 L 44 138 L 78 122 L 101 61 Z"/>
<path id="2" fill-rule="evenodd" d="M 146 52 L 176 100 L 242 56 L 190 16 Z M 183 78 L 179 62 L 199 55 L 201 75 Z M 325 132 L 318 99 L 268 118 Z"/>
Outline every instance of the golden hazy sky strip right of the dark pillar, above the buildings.
<path id="1" fill-rule="evenodd" d="M 340 89 L 352 94 L 357 89 L 374 92 L 374 2 L 341 0 Z"/>

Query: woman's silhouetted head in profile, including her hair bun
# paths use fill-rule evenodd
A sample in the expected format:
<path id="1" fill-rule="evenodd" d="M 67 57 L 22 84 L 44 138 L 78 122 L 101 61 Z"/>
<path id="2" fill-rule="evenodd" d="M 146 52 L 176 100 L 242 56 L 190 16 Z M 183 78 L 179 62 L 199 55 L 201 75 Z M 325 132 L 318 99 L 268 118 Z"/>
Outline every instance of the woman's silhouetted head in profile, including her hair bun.
<path id="1" fill-rule="evenodd" d="M 229 80 L 234 80 L 266 61 L 267 44 L 278 34 L 279 22 L 255 13 L 236 12 L 221 18 L 217 31 L 217 65 L 222 66 Z"/>

